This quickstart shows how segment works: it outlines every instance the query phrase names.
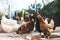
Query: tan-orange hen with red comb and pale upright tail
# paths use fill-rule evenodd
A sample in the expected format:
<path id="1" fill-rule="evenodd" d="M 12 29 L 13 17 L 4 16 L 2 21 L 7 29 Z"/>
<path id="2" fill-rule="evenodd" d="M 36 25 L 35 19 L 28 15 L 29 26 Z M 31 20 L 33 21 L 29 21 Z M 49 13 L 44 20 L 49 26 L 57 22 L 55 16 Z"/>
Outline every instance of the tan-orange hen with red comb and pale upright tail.
<path id="1" fill-rule="evenodd" d="M 53 32 L 54 21 L 51 20 L 48 24 L 47 20 L 44 20 L 39 13 L 36 16 L 39 19 L 40 30 L 44 33 L 45 37 L 49 38 L 51 32 Z"/>

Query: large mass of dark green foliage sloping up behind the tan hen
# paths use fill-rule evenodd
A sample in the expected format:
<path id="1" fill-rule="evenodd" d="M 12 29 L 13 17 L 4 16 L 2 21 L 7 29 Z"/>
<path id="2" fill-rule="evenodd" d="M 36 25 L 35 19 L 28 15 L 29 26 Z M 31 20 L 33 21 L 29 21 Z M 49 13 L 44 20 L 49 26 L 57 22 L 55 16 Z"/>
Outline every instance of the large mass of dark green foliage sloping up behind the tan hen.
<path id="1" fill-rule="evenodd" d="M 55 25 L 60 25 L 60 0 L 55 0 L 48 5 L 44 6 L 41 10 L 46 17 L 54 19 Z M 43 15 L 44 16 L 44 15 Z"/>

